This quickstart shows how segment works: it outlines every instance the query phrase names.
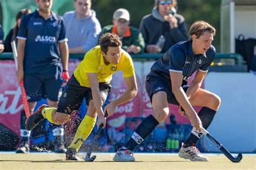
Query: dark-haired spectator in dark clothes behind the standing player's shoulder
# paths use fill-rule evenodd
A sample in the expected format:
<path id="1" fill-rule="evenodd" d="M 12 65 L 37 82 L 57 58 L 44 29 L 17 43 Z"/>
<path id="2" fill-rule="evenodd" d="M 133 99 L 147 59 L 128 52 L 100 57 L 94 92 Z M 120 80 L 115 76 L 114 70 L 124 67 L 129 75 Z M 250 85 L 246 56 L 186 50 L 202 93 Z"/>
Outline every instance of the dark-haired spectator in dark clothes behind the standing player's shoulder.
<path id="1" fill-rule="evenodd" d="M 17 35 L 19 31 L 19 24 L 21 24 L 21 18 L 28 14 L 31 13 L 30 9 L 22 9 L 20 10 L 17 15 L 16 15 L 16 25 L 10 30 L 8 35 L 6 36 L 4 40 L 4 52 L 12 52 L 11 48 L 11 42 L 15 41 L 15 44 L 17 45 Z"/>

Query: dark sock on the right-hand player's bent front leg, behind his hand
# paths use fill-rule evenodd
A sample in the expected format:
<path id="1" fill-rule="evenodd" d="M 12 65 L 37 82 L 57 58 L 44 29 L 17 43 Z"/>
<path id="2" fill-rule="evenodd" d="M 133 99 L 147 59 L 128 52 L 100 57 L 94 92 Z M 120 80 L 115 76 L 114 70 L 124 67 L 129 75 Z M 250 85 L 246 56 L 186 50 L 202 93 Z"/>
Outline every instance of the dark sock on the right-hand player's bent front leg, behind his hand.
<path id="1" fill-rule="evenodd" d="M 203 124 L 204 129 L 207 129 L 208 126 L 210 126 L 214 116 L 216 114 L 215 110 L 212 110 L 207 107 L 203 107 L 199 113 L 198 116 L 201 119 L 201 122 Z M 189 147 L 191 145 L 196 145 L 197 141 L 200 139 L 200 137 L 203 135 L 202 133 L 195 132 L 196 129 L 192 129 L 192 132 L 190 133 L 190 136 L 187 138 L 187 140 L 184 143 L 184 147 Z"/>

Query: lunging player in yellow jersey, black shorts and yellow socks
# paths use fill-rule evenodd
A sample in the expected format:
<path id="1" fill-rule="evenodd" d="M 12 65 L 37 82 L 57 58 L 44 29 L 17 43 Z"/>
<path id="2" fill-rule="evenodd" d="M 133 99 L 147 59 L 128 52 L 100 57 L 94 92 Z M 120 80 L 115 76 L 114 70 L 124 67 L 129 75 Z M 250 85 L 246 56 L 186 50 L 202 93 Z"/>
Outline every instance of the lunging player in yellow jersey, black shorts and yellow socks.
<path id="1" fill-rule="evenodd" d="M 54 124 L 64 124 L 73 110 L 78 110 L 86 99 L 87 112 L 83 121 L 78 126 L 76 135 L 66 152 L 66 160 L 79 160 L 77 155 L 79 147 L 89 136 L 96 123 L 104 124 L 104 113 L 112 115 L 115 108 L 128 102 L 137 94 L 136 77 L 131 56 L 121 49 L 122 42 L 116 34 L 105 33 L 99 39 L 99 46 L 92 48 L 79 63 L 71 76 L 65 90 L 60 97 L 58 108 L 50 108 L 41 105 L 26 121 L 26 129 L 32 130 L 43 119 L 48 119 Z M 123 71 L 126 91 L 116 100 L 106 105 L 104 111 L 102 105 L 110 93 L 112 74 Z"/>

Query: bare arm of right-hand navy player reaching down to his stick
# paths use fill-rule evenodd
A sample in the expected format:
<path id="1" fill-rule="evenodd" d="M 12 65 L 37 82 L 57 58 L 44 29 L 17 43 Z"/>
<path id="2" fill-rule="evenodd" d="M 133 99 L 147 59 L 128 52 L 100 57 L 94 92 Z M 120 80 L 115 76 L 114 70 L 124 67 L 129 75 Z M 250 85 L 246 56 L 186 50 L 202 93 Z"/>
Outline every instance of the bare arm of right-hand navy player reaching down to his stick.
<path id="1" fill-rule="evenodd" d="M 198 117 L 196 111 L 192 108 L 192 105 L 188 101 L 188 98 L 185 94 L 185 91 L 181 87 L 183 81 L 183 74 L 180 72 L 170 71 L 171 83 L 172 83 L 172 92 L 175 95 L 179 104 L 183 107 L 188 117 L 190 117 L 191 125 L 194 126 L 199 132 L 201 131 L 201 121 Z"/>

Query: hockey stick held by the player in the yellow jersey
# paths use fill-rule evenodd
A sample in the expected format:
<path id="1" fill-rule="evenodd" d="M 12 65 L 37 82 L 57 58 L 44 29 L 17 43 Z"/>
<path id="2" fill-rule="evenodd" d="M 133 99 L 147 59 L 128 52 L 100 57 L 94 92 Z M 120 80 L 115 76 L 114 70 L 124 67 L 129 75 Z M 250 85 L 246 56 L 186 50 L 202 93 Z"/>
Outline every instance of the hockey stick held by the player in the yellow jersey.
<path id="1" fill-rule="evenodd" d="M 107 111 L 106 111 L 104 117 L 106 118 L 107 115 L 108 115 L 108 114 L 107 114 Z M 97 142 L 97 140 L 98 140 L 98 138 L 99 138 L 100 133 L 102 132 L 102 130 L 103 130 L 103 124 L 100 124 L 100 125 L 99 125 L 99 129 L 98 129 L 98 132 L 96 133 L 95 137 L 93 138 L 92 144 L 91 144 L 91 146 L 89 147 L 89 151 L 86 153 L 86 156 L 85 156 L 85 158 L 84 158 L 84 160 L 85 160 L 86 162 L 92 162 L 92 161 L 94 161 L 94 160 L 96 159 L 96 155 L 93 155 L 93 156 L 91 157 L 91 154 L 92 154 L 92 150 L 93 150 L 93 148 L 95 147 L 96 142 Z"/>

